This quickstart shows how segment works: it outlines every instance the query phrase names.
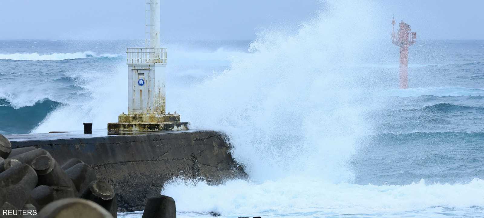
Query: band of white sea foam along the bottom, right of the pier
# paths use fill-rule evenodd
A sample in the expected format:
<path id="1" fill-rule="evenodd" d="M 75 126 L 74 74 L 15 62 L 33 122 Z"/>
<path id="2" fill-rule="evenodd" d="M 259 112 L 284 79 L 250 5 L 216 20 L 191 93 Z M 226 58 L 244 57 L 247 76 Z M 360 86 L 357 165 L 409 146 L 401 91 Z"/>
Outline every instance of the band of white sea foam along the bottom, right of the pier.
<path id="1" fill-rule="evenodd" d="M 219 186 L 204 182 L 174 180 L 162 194 L 172 196 L 180 211 L 216 211 L 222 215 L 290 217 L 410 213 L 421 217 L 424 210 L 439 207 L 466 209 L 484 205 L 484 181 L 468 184 L 426 184 L 424 180 L 403 186 L 333 184 L 307 177 L 291 177 L 252 183 L 232 180 Z M 433 213 L 432 211 L 429 211 Z M 293 214 L 295 213 L 295 214 Z M 277 217 L 277 216 L 276 216 Z M 316 216 L 318 217 L 318 216 Z M 427 216 L 424 216 L 427 217 Z"/>

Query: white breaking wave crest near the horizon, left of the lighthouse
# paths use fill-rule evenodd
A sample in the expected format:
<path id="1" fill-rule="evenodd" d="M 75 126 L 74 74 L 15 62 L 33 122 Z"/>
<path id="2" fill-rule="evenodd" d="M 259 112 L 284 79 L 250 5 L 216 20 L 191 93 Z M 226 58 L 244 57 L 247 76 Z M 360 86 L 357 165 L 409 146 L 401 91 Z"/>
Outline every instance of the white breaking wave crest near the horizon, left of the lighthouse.
<path id="1" fill-rule="evenodd" d="M 76 53 L 53 53 L 53 54 L 39 54 L 39 53 L 15 53 L 15 54 L 0 54 L 0 59 L 9 60 L 29 60 L 29 61 L 61 61 L 67 59 L 80 59 L 80 58 L 115 58 L 121 54 L 96 54 L 92 51 L 76 52 Z"/>

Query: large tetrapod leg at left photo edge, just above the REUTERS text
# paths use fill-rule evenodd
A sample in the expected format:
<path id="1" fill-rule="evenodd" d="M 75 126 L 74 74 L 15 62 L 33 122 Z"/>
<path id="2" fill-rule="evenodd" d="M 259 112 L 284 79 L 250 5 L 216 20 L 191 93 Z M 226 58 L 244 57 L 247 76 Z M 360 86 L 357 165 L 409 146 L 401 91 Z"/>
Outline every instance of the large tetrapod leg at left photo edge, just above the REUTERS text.
<path id="1" fill-rule="evenodd" d="M 18 164 L 0 173 L 0 205 L 11 203 L 22 208 L 37 185 L 37 174 L 27 164 Z"/>

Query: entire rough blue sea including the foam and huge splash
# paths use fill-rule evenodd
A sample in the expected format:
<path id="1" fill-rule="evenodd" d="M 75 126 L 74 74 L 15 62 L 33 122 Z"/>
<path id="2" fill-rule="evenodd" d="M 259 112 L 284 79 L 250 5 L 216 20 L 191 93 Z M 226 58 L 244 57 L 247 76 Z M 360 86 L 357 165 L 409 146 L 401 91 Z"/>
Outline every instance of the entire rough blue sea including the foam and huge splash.
<path id="1" fill-rule="evenodd" d="M 297 32 L 162 42 L 167 111 L 227 133 L 250 175 L 172 180 L 178 217 L 484 217 L 484 41 L 417 40 L 400 90 L 398 48 L 361 37 L 388 34 L 374 9 L 328 8 Z M 106 128 L 127 110 L 125 47 L 142 44 L 0 41 L 1 133 Z"/>

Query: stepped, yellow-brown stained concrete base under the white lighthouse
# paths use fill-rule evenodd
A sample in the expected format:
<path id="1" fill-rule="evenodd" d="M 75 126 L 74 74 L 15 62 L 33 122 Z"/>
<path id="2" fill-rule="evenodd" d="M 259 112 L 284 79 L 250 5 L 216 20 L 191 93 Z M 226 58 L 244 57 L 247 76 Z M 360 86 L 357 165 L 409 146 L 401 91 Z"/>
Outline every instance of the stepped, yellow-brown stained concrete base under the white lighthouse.
<path id="1" fill-rule="evenodd" d="M 120 114 L 118 123 L 108 123 L 108 131 L 163 131 L 188 130 L 187 122 L 180 122 L 180 114 Z"/>

